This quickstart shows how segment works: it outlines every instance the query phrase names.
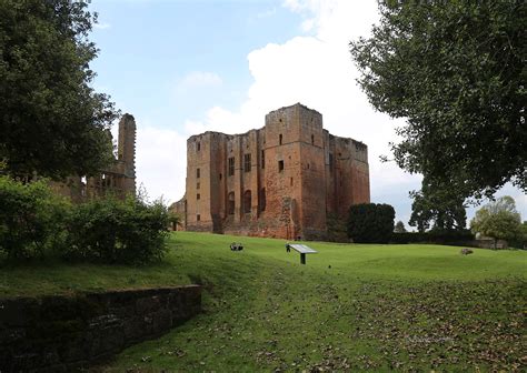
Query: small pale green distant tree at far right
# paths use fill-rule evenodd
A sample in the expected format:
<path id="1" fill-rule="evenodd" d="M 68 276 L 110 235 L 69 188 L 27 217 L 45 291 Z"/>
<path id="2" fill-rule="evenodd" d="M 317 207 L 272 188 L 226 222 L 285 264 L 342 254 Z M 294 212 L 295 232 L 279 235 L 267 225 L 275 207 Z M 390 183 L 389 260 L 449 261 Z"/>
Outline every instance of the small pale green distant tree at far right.
<path id="1" fill-rule="evenodd" d="M 493 238 L 495 248 L 497 240 L 521 238 L 521 219 L 514 199 L 505 195 L 479 209 L 470 221 L 470 230 Z"/>

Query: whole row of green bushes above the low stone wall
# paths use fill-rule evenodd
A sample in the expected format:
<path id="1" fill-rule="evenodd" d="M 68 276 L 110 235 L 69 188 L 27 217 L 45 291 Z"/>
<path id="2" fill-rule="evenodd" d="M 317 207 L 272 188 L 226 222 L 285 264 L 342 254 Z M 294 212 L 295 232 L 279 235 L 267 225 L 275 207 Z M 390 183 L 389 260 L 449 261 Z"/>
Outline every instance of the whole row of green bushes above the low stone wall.
<path id="1" fill-rule="evenodd" d="M 71 204 L 46 181 L 0 177 L 0 254 L 10 260 L 60 255 L 69 260 L 143 264 L 166 253 L 170 215 L 141 196 Z"/>

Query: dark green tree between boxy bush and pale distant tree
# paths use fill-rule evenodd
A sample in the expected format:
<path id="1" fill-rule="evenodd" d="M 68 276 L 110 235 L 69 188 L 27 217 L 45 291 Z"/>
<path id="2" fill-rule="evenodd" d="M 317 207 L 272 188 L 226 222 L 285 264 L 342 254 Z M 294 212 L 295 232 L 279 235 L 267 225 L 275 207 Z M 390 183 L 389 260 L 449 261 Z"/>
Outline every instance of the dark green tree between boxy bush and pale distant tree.
<path id="1" fill-rule="evenodd" d="M 408 222 L 425 232 L 430 226 L 434 231 L 461 231 L 467 224 L 465 198 L 458 191 L 445 185 L 432 185 L 422 180 L 421 190 L 412 192 L 411 216 Z"/>

